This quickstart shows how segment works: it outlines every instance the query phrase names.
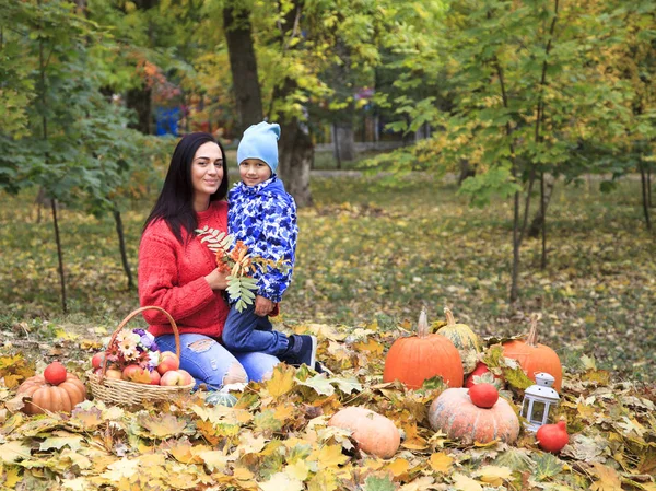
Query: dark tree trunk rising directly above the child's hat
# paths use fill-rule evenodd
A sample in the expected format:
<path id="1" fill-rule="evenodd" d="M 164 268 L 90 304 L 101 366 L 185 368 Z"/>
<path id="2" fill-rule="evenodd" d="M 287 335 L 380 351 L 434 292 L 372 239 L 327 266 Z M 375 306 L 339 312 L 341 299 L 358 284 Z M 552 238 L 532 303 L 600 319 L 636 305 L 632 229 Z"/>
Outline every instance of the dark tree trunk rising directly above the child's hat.
<path id="1" fill-rule="evenodd" d="M 250 12 L 235 3 L 227 2 L 223 8 L 223 28 L 238 115 L 236 129 L 241 137 L 246 128 L 262 120 L 263 109 L 253 43 Z"/>

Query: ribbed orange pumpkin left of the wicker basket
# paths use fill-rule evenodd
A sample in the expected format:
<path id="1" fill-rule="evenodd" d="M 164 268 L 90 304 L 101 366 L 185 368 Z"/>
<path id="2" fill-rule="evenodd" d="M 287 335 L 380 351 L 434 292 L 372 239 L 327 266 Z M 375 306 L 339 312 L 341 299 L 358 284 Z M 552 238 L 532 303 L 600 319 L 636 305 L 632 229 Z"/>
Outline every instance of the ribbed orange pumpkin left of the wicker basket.
<path id="1" fill-rule="evenodd" d="M 21 409 L 26 414 L 39 414 L 46 409 L 71 412 L 75 405 L 86 399 L 86 387 L 72 373 L 67 374 L 59 385 L 50 385 L 43 375 L 35 375 L 20 385 L 17 395 L 31 399 L 25 400 Z"/>

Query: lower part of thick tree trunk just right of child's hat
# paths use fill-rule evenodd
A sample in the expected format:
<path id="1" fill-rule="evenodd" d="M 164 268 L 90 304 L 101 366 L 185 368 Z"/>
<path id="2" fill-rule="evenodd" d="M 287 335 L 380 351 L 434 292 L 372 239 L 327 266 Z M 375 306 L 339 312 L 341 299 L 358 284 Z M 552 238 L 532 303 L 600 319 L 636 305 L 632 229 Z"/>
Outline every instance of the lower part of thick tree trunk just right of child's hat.
<path id="1" fill-rule="evenodd" d="M 280 126 L 280 177 L 296 204 L 309 207 L 309 169 L 314 160 L 312 139 L 297 118 L 285 120 Z"/>

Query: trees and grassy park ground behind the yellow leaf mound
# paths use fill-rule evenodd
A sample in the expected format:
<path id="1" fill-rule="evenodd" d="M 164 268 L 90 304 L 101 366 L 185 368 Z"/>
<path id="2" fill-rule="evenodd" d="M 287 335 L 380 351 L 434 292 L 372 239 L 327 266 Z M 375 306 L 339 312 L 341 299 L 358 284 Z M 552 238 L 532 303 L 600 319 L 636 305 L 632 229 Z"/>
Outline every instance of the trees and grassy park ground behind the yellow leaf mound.
<path id="1" fill-rule="evenodd" d="M 286 320 L 396 325 L 449 304 L 507 336 L 539 312 L 557 349 L 653 378 L 651 2 L 1 11 L 3 330 L 136 307 L 139 226 L 176 141 L 153 133 L 234 149 L 266 117 L 302 209 Z"/>

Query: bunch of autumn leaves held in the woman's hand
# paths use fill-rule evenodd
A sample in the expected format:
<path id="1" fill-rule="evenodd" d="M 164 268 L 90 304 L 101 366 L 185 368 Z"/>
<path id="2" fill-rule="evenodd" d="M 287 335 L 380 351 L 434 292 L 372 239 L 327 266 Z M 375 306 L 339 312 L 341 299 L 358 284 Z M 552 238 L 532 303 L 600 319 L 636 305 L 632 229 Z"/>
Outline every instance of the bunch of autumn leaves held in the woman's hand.
<path id="1" fill-rule="evenodd" d="M 230 300 L 236 302 L 235 308 L 244 311 L 253 305 L 255 293 L 258 289 L 257 281 L 253 278 L 258 269 L 267 271 L 268 268 L 283 270 L 288 260 L 274 261 L 261 256 L 248 254 L 248 247 L 243 241 L 236 241 L 232 235 L 210 229 L 207 225 L 196 231 L 201 243 L 207 243 L 210 250 L 216 254 L 219 271 L 226 273 L 227 294 Z"/>

